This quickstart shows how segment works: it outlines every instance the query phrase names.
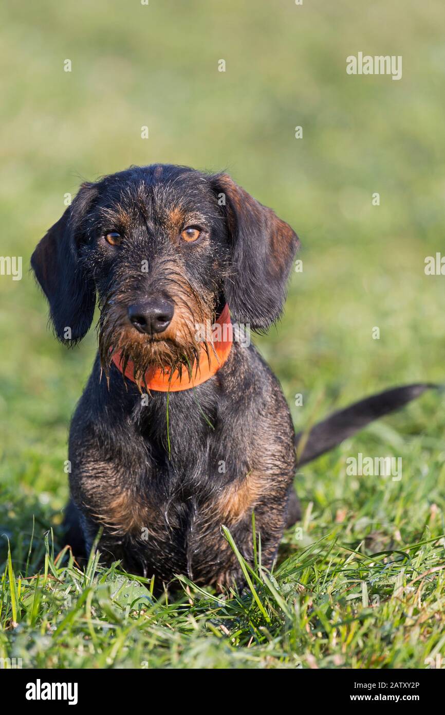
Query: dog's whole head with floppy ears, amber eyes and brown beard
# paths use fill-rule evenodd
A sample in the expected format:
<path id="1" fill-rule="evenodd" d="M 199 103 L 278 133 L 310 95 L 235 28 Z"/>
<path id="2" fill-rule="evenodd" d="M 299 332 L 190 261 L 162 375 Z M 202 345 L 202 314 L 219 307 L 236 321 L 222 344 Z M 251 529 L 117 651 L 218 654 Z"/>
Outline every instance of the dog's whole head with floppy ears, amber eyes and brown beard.
<path id="1" fill-rule="evenodd" d="M 99 297 L 104 370 L 120 351 L 135 375 L 189 364 L 196 324 L 229 304 L 266 330 L 282 310 L 298 245 L 291 228 L 227 174 L 134 167 L 83 184 L 31 266 L 59 340 L 89 330 Z"/>

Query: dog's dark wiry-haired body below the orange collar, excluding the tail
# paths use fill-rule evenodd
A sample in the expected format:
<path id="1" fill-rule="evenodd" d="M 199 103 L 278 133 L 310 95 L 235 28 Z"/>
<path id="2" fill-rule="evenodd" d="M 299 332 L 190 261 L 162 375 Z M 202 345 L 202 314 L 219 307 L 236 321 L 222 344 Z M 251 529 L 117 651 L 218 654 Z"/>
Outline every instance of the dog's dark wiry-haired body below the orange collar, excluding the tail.
<path id="1" fill-rule="evenodd" d="M 104 526 L 105 556 L 164 581 L 185 573 L 198 583 L 221 582 L 238 575 L 221 524 L 249 558 L 255 509 L 270 564 L 294 477 L 294 431 L 276 380 L 256 351 L 235 344 L 227 363 L 195 394 L 171 393 L 170 454 L 166 395 L 152 393 L 142 407 L 136 385 L 126 389 L 114 369 L 109 400 L 99 371 L 96 363 L 74 415 L 69 456 L 81 465 L 73 466 L 72 496 L 79 506 L 88 505 L 83 511 L 90 538 L 96 524 Z"/>

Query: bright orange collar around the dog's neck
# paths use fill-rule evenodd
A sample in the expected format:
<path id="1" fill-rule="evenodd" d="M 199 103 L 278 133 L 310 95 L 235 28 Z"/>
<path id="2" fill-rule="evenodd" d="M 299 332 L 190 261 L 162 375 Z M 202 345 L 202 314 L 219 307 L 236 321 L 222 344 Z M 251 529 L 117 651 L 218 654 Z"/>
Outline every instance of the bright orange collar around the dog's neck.
<path id="1" fill-rule="evenodd" d="M 217 326 L 219 326 L 219 328 Z M 215 328 L 216 330 L 214 330 Z M 224 305 L 221 315 L 219 315 L 215 324 L 211 327 L 211 332 L 212 335 L 216 333 L 216 336 L 213 342 L 209 344 L 209 357 L 203 346 L 201 355 L 199 356 L 199 363 L 196 364 L 195 360 L 192 367 L 191 378 L 189 378 L 189 373 L 185 368 L 182 370 L 181 377 L 179 376 L 178 370 L 174 370 L 173 375 L 170 375 L 169 370 L 163 371 L 159 370 L 159 368 L 149 368 L 145 373 L 147 389 L 158 390 L 161 393 L 177 393 L 180 390 L 189 390 L 190 388 L 196 387 L 196 385 L 201 385 L 201 383 L 205 383 L 206 380 L 213 377 L 219 368 L 221 368 L 221 365 L 224 365 L 227 358 L 229 358 L 233 342 L 233 328 L 227 303 Z M 212 345 L 214 350 L 212 350 Z M 115 352 L 112 360 L 116 368 L 122 372 L 121 352 Z M 136 382 L 136 380 L 134 380 L 134 365 L 131 360 L 129 360 L 126 365 L 125 377 L 134 383 Z M 144 380 L 142 384 L 144 385 Z"/>

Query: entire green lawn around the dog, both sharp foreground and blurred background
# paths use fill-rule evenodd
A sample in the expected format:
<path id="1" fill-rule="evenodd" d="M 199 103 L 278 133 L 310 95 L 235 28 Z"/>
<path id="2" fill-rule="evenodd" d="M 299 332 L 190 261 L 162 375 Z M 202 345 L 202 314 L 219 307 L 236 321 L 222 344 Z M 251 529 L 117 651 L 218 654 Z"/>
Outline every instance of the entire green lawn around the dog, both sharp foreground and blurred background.
<path id="1" fill-rule="evenodd" d="M 256 340 L 296 428 L 391 385 L 444 383 L 445 277 L 424 273 L 445 253 L 444 20 L 441 0 L 2 9 L 0 254 L 24 267 L 22 280 L 0 276 L 0 657 L 290 669 L 445 658 L 443 396 L 304 467 L 303 521 L 250 591 L 223 600 L 182 579 L 183 598 L 155 601 L 119 564 L 93 554 L 84 573 L 60 554 L 66 435 L 96 336 L 56 344 L 28 273 L 82 180 L 151 162 L 226 169 L 301 237 L 284 318 Z M 403 56 L 402 79 L 347 75 L 358 51 Z M 348 476 L 360 452 L 400 457 L 401 480 Z"/>

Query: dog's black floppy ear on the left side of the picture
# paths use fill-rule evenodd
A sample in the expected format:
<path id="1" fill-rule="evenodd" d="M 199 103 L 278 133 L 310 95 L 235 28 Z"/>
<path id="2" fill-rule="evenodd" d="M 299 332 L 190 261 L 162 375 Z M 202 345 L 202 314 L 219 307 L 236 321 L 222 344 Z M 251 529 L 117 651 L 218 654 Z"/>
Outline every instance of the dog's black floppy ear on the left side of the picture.
<path id="1" fill-rule="evenodd" d="M 95 184 L 83 184 L 64 215 L 41 239 L 31 267 L 48 298 L 56 337 L 73 345 L 86 335 L 94 315 L 96 290 L 79 256 L 81 220 L 97 196 Z"/>

